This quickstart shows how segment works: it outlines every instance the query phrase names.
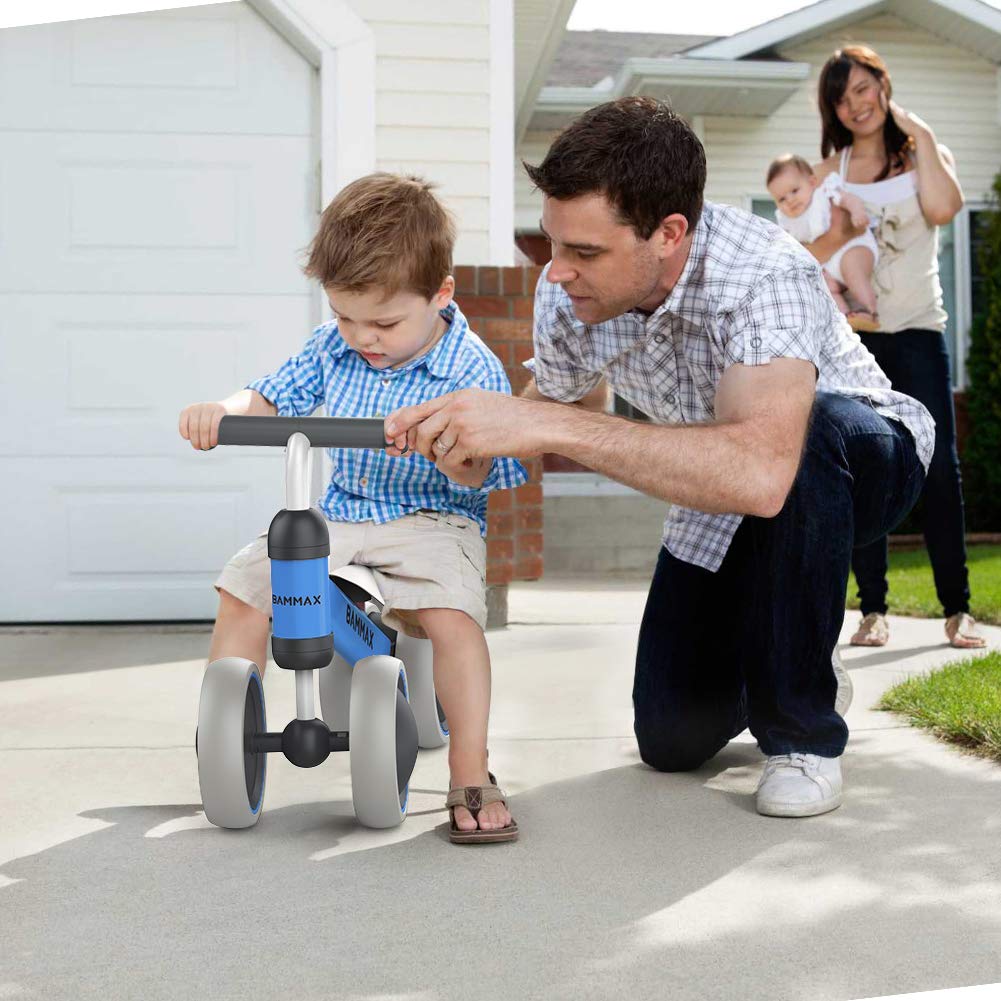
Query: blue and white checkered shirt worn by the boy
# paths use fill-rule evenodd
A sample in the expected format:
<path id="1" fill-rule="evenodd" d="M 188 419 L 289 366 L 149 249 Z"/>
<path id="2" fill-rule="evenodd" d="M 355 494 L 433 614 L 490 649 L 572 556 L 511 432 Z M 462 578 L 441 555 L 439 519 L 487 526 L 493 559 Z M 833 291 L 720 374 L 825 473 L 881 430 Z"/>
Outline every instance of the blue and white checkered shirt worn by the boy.
<path id="1" fill-rule="evenodd" d="M 305 347 L 272 375 L 250 382 L 283 417 L 302 417 L 321 404 L 331 417 L 384 417 L 397 407 L 478 386 L 511 393 L 497 356 L 450 303 L 441 311 L 448 329 L 426 353 L 401 368 L 373 368 L 347 346 L 337 321 L 316 327 Z M 421 455 L 394 458 L 374 448 L 329 448 L 330 485 L 319 509 L 331 522 L 391 522 L 421 508 L 464 515 L 486 535 L 490 490 L 528 478 L 514 458 L 494 458 L 481 486 L 461 486 Z"/>

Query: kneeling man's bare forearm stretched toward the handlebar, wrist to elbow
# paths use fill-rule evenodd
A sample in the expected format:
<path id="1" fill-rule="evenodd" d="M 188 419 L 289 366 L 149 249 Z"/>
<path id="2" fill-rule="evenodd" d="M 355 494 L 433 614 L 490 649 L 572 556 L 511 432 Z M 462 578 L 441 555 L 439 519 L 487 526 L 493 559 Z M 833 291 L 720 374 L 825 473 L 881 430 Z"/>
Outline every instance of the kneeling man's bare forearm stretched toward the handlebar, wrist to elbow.
<path id="1" fill-rule="evenodd" d="M 695 511 L 771 518 L 791 484 L 790 456 L 749 424 L 646 424 L 559 404 L 549 416 L 545 450 Z"/>

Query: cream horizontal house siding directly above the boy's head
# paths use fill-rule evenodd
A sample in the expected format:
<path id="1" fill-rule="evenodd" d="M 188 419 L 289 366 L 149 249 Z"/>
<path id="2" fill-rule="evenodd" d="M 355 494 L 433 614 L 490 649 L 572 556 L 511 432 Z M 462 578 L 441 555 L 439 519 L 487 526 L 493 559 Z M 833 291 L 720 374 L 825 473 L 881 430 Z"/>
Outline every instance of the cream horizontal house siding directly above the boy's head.
<path id="1" fill-rule="evenodd" d="M 377 169 L 437 184 L 455 215 L 455 261 L 490 263 L 488 0 L 353 6 L 375 40 Z"/>

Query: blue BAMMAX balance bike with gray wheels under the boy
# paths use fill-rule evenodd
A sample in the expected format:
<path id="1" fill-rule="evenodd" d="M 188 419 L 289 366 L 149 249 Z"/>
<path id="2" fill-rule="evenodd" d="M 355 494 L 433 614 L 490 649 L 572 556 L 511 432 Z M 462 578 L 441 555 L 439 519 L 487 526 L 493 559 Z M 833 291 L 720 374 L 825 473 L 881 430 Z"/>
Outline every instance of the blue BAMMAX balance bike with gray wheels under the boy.
<path id="1" fill-rule="evenodd" d="M 441 747 L 448 728 L 434 694 L 427 640 L 384 626 L 384 604 L 367 567 L 332 574 L 326 522 L 309 505 L 311 447 L 384 448 L 382 421 L 345 417 L 225 416 L 219 444 L 284 445 L 285 504 L 271 522 L 271 652 L 295 672 L 295 716 L 269 733 L 260 668 L 239 657 L 205 669 L 195 753 L 206 818 L 252 827 L 260 817 L 267 755 L 314 768 L 347 751 L 354 813 L 366 827 L 406 817 L 417 749 Z M 405 664 L 405 667 L 404 667 Z M 320 707 L 313 707 L 319 671 Z"/>

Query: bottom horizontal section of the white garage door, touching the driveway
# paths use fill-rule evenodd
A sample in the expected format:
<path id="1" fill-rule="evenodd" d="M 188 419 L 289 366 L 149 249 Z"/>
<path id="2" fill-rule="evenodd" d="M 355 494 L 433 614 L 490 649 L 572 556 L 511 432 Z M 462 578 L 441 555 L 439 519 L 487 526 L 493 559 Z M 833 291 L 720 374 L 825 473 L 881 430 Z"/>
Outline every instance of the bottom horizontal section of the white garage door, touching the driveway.
<path id="1" fill-rule="evenodd" d="M 6 622 L 211 619 L 212 582 L 283 506 L 277 453 L 187 463 L 5 460 L 23 491 L 0 524 Z"/>

